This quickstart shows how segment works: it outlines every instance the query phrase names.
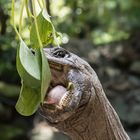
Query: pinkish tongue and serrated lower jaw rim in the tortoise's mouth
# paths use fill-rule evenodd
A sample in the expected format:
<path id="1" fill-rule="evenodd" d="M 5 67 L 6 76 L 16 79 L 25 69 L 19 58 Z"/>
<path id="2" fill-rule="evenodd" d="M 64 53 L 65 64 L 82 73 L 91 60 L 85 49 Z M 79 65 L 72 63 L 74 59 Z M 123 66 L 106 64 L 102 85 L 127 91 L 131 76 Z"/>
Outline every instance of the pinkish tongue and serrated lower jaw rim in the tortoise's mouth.
<path id="1" fill-rule="evenodd" d="M 72 100 L 73 96 L 73 84 L 70 82 L 68 87 L 65 88 L 62 85 L 57 85 L 47 93 L 43 107 L 47 110 L 57 111 L 67 108 Z"/>

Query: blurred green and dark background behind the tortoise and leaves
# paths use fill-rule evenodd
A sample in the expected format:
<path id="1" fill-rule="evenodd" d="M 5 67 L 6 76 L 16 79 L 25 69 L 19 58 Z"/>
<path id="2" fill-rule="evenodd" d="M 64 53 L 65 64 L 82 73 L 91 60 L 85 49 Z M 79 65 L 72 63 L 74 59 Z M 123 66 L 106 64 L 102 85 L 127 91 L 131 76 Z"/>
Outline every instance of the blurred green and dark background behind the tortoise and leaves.
<path id="1" fill-rule="evenodd" d="M 96 70 L 132 140 L 140 140 L 140 1 L 46 0 L 62 46 Z M 16 2 L 16 8 L 20 1 Z M 11 0 L 0 0 L 0 140 L 67 140 L 38 114 L 20 116 L 14 106 L 20 79 L 19 45 L 10 24 Z M 16 17 L 19 17 L 18 10 Z M 22 35 L 28 41 L 28 27 Z"/>

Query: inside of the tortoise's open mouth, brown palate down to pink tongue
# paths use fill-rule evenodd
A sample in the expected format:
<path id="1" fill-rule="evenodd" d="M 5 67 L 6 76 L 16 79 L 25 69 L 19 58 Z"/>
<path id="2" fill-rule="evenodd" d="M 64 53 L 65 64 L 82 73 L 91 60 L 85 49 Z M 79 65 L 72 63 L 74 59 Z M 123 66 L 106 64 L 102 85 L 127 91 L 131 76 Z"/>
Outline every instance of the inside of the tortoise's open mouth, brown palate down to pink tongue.
<path id="1" fill-rule="evenodd" d="M 68 66 L 52 61 L 49 61 L 49 66 L 51 68 L 52 80 L 43 104 L 46 108 L 55 110 L 55 107 L 61 107 L 62 98 L 66 98 L 65 96 L 69 93 L 67 88 L 69 85 Z"/>

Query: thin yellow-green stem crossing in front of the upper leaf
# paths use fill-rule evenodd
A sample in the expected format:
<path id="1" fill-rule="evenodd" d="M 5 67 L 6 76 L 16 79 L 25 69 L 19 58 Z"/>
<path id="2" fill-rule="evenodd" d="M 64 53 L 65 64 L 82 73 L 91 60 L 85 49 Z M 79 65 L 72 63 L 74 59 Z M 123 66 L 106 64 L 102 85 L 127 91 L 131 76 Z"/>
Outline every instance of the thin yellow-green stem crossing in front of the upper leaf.
<path id="1" fill-rule="evenodd" d="M 40 39 L 40 35 L 39 35 L 39 30 L 38 30 L 38 24 L 37 24 L 37 19 L 36 19 L 36 11 L 35 11 L 35 2 L 34 0 L 32 0 L 32 6 L 33 6 L 33 15 L 34 15 L 34 22 L 35 22 L 35 29 L 36 29 L 36 34 L 37 34 L 37 38 L 38 38 L 38 43 L 39 43 L 39 47 L 43 47 L 41 39 Z"/>

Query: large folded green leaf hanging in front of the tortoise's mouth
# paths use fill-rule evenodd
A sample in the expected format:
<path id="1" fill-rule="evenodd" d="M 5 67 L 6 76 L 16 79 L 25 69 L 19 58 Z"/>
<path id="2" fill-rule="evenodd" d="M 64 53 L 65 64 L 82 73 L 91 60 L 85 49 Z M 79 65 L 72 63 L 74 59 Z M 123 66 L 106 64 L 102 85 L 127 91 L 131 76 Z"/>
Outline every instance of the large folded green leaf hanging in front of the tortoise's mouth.
<path id="1" fill-rule="evenodd" d="M 33 54 L 21 40 L 17 50 L 17 70 L 23 82 L 16 109 L 20 114 L 29 116 L 43 102 L 51 80 L 43 48 Z"/>

